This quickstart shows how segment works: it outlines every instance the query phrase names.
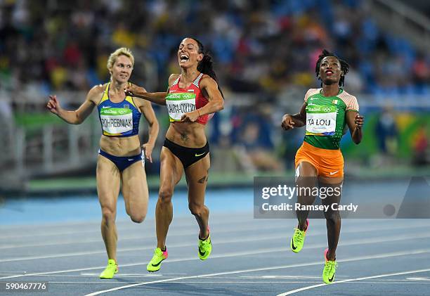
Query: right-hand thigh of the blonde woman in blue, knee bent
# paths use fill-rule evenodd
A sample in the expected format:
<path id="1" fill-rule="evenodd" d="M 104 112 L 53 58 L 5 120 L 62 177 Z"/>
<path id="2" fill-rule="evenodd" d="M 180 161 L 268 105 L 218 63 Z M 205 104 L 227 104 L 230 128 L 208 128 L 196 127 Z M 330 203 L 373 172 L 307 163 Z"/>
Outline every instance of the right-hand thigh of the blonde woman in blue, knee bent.
<path id="1" fill-rule="evenodd" d="M 133 210 L 146 213 L 149 192 L 143 161 L 134 162 L 133 165 L 124 169 L 121 181 L 126 212 L 131 214 L 131 210 Z"/>

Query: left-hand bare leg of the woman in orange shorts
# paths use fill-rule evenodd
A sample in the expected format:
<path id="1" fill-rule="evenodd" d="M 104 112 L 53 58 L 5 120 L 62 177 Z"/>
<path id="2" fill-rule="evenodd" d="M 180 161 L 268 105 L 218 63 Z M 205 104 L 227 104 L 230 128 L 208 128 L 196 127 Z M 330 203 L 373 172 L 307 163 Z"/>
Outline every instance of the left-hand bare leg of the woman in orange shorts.
<path id="1" fill-rule="evenodd" d="M 299 176 L 296 176 L 296 184 L 299 187 L 297 194 L 297 202 L 300 205 L 312 205 L 315 202 L 315 196 L 311 194 L 312 188 L 316 184 L 318 175 L 317 169 L 310 162 L 300 162 L 296 171 L 299 171 Z M 299 229 L 306 229 L 306 219 L 308 218 L 308 210 L 297 210 L 297 219 L 299 220 Z"/>

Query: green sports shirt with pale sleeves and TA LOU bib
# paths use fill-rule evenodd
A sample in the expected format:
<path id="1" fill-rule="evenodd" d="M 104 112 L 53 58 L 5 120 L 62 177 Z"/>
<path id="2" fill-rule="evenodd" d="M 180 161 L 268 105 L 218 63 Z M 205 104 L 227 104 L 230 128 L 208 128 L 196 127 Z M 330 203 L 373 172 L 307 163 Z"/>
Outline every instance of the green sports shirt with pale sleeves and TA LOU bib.
<path id="1" fill-rule="evenodd" d="M 344 135 L 346 111 L 358 112 L 358 102 L 344 89 L 337 96 L 323 96 L 323 89 L 309 89 L 306 102 L 306 136 L 304 141 L 323 149 L 339 149 Z"/>

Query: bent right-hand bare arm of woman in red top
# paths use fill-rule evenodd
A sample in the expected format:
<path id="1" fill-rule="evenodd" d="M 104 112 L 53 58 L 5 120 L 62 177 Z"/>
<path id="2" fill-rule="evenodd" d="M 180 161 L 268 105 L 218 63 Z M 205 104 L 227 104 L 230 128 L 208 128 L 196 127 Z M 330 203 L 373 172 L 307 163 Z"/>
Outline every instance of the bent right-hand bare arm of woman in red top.
<path id="1" fill-rule="evenodd" d="M 202 115 L 211 114 L 223 110 L 224 100 L 218 89 L 218 84 L 209 75 L 204 75 L 200 80 L 200 89 L 203 95 L 209 101 L 202 108 L 188 112 L 182 115 L 181 120 L 184 122 L 195 122 Z"/>

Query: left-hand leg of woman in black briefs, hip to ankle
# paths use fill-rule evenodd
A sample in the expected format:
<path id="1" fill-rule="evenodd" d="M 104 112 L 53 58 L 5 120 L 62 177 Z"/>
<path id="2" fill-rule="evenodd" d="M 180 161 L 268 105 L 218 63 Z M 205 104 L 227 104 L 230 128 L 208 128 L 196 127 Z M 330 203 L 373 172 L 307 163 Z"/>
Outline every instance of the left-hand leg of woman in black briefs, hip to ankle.
<path id="1" fill-rule="evenodd" d="M 157 247 L 166 247 L 167 231 L 173 219 L 171 197 L 174 187 L 181 180 L 183 165 L 171 151 L 163 147 L 161 152 L 161 172 L 157 206 L 155 207 L 155 222 L 157 232 Z"/>

